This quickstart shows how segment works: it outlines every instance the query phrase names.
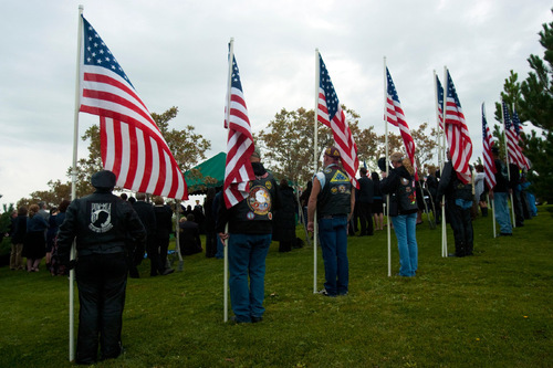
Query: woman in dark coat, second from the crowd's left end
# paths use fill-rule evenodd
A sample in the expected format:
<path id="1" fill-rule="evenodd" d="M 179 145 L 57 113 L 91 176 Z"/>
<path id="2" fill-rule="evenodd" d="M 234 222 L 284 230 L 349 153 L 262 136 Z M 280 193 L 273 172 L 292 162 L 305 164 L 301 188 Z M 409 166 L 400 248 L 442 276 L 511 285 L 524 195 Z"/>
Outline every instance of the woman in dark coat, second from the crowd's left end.
<path id="1" fill-rule="evenodd" d="M 46 254 L 46 229 L 48 222 L 39 213 L 39 204 L 31 204 L 29 207 L 29 219 L 27 219 L 27 234 L 22 254 L 27 257 L 28 272 L 39 272 L 39 264 Z"/>

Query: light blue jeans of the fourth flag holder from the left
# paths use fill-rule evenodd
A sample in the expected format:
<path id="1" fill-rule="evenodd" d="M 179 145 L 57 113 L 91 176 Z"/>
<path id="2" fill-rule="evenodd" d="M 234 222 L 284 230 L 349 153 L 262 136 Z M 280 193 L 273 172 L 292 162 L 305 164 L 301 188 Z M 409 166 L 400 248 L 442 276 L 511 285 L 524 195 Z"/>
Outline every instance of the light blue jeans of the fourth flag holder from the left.
<path id="1" fill-rule="evenodd" d="M 399 275 L 415 276 L 418 266 L 417 213 L 399 214 L 392 218 L 399 250 Z"/>

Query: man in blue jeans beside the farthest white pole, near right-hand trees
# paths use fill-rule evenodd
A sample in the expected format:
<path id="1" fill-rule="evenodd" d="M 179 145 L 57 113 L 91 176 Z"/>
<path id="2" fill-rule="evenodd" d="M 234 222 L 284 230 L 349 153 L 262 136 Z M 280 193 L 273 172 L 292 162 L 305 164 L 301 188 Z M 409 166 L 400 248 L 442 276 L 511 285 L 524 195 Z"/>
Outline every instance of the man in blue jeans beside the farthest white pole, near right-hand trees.
<path id="1" fill-rule="evenodd" d="M 492 147 L 491 154 L 495 164 L 495 187 L 490 190 L 490 199 L 494 201 L 495 221 L 499 223 L 499 235 L 511 236 L 513 234 L 511 217 L 509 215 L 509 206 L 507 197 L 512 190 L 509 187 L 509 174 L 507 165 L 499 158 L 499 148 Z"/>

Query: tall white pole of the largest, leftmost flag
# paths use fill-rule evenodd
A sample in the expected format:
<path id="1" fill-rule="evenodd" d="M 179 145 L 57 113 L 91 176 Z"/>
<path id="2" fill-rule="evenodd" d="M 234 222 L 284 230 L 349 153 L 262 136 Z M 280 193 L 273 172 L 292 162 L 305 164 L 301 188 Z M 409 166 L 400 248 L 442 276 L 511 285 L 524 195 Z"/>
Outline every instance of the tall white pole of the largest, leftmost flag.
<path id="1" fill-rule="evenodd" d="M 71 200 L 76 198 L 76 160 L 77 160 L 77 145 L 79 145 L 79 109 L 81 107 L 81 63 L 83 61 L 83 6 L 79 6 L 79 29 L 77 29 L 77 42 L 76 42 L 76 73 L 75 73 L 75 109 L 74 109 L 74 128 L 73 128 L 73 165 L 71 168 Z M 71 245 L 70 259 L 74 260 L 76 257 L 75 242 Z M 74 304 L 74 293 L 75 293 L 75 270 L 70 270 L 70 285 L 69 285 L 69 349 L 70 361 L 75 360 L 75 304 Z"/>

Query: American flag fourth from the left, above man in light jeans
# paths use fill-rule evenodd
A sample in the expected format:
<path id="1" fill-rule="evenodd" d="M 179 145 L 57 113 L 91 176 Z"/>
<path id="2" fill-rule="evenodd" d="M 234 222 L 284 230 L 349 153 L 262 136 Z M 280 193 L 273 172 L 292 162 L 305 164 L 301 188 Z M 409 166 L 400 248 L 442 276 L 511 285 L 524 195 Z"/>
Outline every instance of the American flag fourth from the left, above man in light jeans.
<path id="1" fill-rule="evenodd" d="M 392 75 L 389 74 L 387 66 L 386 81 L 386 115 L 384 116 L 384 118 L 386 119 L 386 122 L 399 128 L 399 133 L 401 134 L 401 138 L 404 139 L 405 150 L 407 153 L 407 156 L 409 157 L 409 160 L 411 161 L 413 168 L 415 169 L 415 179 L 418 181 L 417 161 L 415 160 L 415 140 L 413 140 L 409 126 L 405 120 L 404 109 L 401 108 L 401 103 L 399 102 L 399 97 L 397 96 L 396 86 L 394 85 L 394 81 L 392 80 Z"/>

